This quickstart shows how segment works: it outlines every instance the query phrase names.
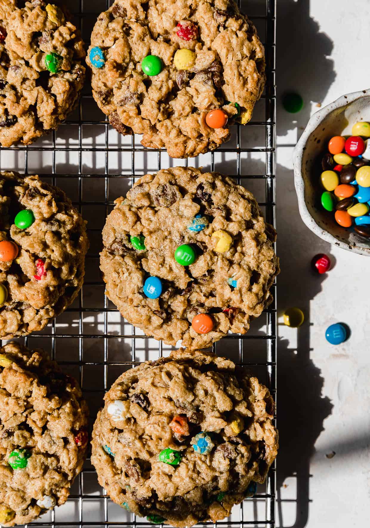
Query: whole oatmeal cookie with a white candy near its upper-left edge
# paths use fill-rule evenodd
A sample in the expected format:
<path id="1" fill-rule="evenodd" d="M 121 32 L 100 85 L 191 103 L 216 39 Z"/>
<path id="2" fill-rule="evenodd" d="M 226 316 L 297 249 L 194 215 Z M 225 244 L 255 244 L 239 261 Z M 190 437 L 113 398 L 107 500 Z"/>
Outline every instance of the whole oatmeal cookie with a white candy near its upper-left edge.
<path id="1" fill-rule="evenodd" d="M 111 499 L 149 522 L 220 521 L 277 455 L 273 400 L 232 361 L 172 352 L 124 372 L 105 395 L 91 461 Z"/>

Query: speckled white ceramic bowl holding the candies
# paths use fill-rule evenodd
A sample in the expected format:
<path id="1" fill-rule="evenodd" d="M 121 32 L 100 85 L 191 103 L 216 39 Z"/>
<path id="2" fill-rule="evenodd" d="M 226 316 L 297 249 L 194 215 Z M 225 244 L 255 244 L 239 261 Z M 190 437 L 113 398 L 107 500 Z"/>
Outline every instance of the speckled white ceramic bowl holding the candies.
<path id="1" fill-rule="evenodd" d="M 331 244 L 370 256 L 370 239 L 360 237 L 353 229 L 341 228 L 334 213 L 320 205 L 318 182 L 322 169 L 318 168 L 318 159 L 328 152 L 331 137 L 350 135 L 357 121 L 370 121 L 370 89 L 347 93 L 311 117 L 294 149 L 294 178 L 299 212 L 307 227 Z"/>

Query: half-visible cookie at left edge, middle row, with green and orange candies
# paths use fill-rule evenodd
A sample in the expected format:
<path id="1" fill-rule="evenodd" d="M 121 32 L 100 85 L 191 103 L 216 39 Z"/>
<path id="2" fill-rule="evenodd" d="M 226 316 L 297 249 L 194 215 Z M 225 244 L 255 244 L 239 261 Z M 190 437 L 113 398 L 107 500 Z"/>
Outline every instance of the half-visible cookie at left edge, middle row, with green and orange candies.
<path id="1" fill-rule="evenodd" d="M 0 338 L 40 331 L 77 296 L 86 222 L 39 176 L 0 173 Z"/>

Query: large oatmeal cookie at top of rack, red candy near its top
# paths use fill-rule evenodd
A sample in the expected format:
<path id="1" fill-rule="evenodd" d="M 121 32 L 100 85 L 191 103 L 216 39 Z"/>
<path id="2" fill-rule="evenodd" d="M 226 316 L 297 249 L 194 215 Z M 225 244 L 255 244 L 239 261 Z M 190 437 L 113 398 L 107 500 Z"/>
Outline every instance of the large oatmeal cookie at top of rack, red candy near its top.
<path id="1" fill-rule="evenodd" d="M 116 0 L 94 26 L 87 64 L 110 124 L 174 158 L 230 139 L 224 121 L 246 124 L 265 82 L 263 46 L 233 0 Z M 215 109 L 221 122 L 208 126 Z"/>

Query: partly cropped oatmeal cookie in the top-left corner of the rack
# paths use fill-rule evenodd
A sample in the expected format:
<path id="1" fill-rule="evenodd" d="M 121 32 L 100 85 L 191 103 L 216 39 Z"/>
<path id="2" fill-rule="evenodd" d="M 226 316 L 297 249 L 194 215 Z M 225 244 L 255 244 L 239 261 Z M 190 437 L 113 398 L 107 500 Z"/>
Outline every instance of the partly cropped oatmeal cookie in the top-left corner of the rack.
<path id="1" fill-rule="evenodd" d="M 63 8 L 0 0 L 0 145 L 25 145 L 58 127 L 85 77 L 83 42 Z M 22 4 L 22 7 L 21 7 Z"/>

